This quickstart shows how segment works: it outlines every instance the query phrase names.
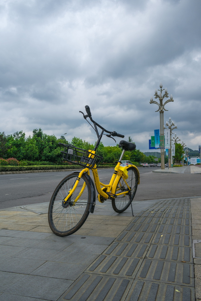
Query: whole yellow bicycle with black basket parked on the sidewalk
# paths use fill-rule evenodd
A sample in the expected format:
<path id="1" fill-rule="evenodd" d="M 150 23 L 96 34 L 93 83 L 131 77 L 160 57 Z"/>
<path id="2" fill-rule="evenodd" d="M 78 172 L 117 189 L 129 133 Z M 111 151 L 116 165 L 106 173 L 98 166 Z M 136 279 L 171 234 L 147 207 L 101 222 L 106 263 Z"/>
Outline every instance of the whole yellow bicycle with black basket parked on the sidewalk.
<path id="1" fill-rule="evenodd" d="M 103 203 L 111 200 L 112 207 L 117 213 L 124 212 L 130 205 L 133 214 L 132 200 L 135 196 L 137 185 L 140 183 L 140 174 L 136 166 L 129 164 L 120 166 L 125 151 L 133 151 L 136 148 L 134 143 L 121 140 L 119 147 L 122 154 L 115 166 L 114 173 L 109 184 L 103 184 L 99 180 L 97 167 L 102 157 L 96 154 L 102 135 L 117 136 L 124 138 L 124 135 L 116 132 L 109 132 L 92 119 L 89 106 L 85 106 L 87 115 L 84 119 L 90 119 L 90 125 L 96 131 L 98 140 L 93 150 L 83 150 L 73 145 L 59 143 L 64 146 L 63 159 L 83 166 L 81 171 L 72 172 L 67 175 L 56 187 L 49 203 L 48 221 L 53 233 L 59 236 L 68 236 L 75 233 L 86 221 L 89 213 L 94 212 L 96 204 L 96 189 L 98 200 Z M 99 129 L 98 129 L 99 128 Z M 101 129 L 101 133 L 99 131 Z M 106 132 L 107 134 L 104 134 Z M 113 138 L 114 139 L 114 138 Z M 114 139 L 115 140 L 115 139 Z M 115 141 L 116 142 L 116 141 Z M 93 178 L 90 177 L 90 170 Z"/>

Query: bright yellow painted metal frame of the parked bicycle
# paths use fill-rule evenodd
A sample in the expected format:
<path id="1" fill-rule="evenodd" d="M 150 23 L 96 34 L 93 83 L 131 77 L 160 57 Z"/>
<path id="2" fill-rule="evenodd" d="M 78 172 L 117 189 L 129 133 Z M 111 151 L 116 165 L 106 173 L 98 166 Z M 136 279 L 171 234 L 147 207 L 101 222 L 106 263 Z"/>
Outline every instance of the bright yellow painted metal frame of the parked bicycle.
<path id="1" fill-rule="evenodd" d="M 89 150 L 89 156 L 88 157 L 94 157 L 93 154 L 95 154 L 95 151 L 91 151 Z M 127 169 L 131 166 L 133 166 L 136 171 L 137 171 L 137 174 L 138 174 L 138 184 L 140 184 L 140 173 L 137 169 L 137 167 L 133 164 L 129 164 L 128 166 L 125 166 L 125 167 L 122 167 L 120 166 L 121 162 L 118 162 L 117 165 L 115 166 L 115 170 L 114 170 L 114 173 L 111 177 L 111 180 L 109 182 L 109 184 L 103 184 L 100 182 L 99 180 L 99 175 L 98 175 L 98 170 L 97 170 L 97 167 L 96 167 L 96 164 L 94 165 L 93 169 L 92 169 L 92 173 L 93 173 L 93 178 L 94 178 L 94 182 L 95 182 L 95 185 L 96 185 L 96 189 L 99 193 L 99 202 L 101 202 L 100 200 L 100 196 L 102 196 L 103 198 L 105 199 L 108 199 L 109 196 L 111 197 L 115 197 L 115 191 L 116 191 L 116 188 L 117 188 L 117 184 L 119 182 L 119 179 L 122 177 L 124 179 L 124 182 L 125 184 L 127 185 L 128 189 L 130 190 L 130 187 L 128 186 L 127 182 L 126 182 L 126 179 L 128 178 L 128 172 L 127 172 Z M 90 164 L 87 164 L 87 166 L 90 166 Z M 77 185 L 80 181 L 80 178 L 81 176 L 83 175 L 83 173 L 86 172 L 88 175 L 90 174 L 90 170 L 89 168 L 84 168 L 83 170 L 81 170 L 81 172 L 79 173 L 79 176 L 77 177 L 77 180 L 74 184 L 74 187 L 68 191 L 68 195 L 67 197 L 64 199 L 64 203 L 68 201 L 68 199 L 71 197 L 71 195 L 73 194 L 73 192 L 75 191 L 75 189 L 77 188 Z M 77 202 L 77 200 L 79 200 L 80 196 L 82 195 L 83 191 L 84 191 L 84 188 L 85 188 L 86 184 L 83 184 L 81 190 L 80 190 L 80 193 L 79 195 L 77 196 L 77 198 L 74 200 L 74 202 Z M 101 188 L 101 186 L 103 188 Z M 104 189 L 104 191 L 103 191 Z M 128 191 L 124 191 L 124 192 L 120 192 L 116 195 L 121 195 L 121 194 L 127 194 Z M 107 193 L 109 193 L 109 195 Z M 101 202 L 102 203 L 102 202 Z"/>

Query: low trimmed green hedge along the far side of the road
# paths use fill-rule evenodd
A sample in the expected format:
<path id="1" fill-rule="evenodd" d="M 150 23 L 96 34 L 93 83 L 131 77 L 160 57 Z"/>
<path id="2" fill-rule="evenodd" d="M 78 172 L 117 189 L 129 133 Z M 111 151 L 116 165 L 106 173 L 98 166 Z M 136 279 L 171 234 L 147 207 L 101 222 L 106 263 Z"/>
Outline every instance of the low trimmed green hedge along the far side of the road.
<path id="1" fill-rule="evenodd" d="M 110 168 L 108 165 L 99 165 L 98 168 Z M 52 170 L 52 169 L 81 169 L 80 165 L 38 165 L 38 166 L 0 166 L 0 172 L 5 171 L 29 171 L 29 170 Z"/>

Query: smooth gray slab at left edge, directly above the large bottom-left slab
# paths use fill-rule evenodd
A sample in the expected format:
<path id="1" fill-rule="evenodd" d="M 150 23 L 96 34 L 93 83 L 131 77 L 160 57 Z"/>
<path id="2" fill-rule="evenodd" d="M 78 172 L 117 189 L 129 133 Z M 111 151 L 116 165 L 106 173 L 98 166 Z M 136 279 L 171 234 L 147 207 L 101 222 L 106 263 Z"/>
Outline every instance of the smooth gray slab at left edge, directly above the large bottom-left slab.
<path id="1" fill-rule="evenodd" d="M 20 274 L 30 274 L 43 263 L 45 263 L 45 261 L 37 259 L 26 259 L 16 257 L 0 258 L 1 271 Z"/>

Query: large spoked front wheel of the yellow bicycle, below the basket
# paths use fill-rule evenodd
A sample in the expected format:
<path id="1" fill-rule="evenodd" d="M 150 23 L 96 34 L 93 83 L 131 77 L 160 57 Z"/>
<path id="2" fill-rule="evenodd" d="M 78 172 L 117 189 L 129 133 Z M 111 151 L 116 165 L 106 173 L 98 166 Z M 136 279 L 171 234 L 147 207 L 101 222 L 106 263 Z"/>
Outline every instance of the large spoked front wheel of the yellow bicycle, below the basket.
<path id="1" fill-rule="evenodd" d="M 79 172 L 65 177 L 55 189 L 49 203 L 48 222 L 53 233 L 58 236 L 68 236 L 76 232 L 89 215 L 91 188 L 89 180 L 82 175 L 79 183 L 68 199 L 64 199 L 73 189 Z"/>

